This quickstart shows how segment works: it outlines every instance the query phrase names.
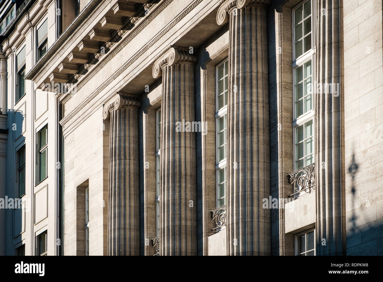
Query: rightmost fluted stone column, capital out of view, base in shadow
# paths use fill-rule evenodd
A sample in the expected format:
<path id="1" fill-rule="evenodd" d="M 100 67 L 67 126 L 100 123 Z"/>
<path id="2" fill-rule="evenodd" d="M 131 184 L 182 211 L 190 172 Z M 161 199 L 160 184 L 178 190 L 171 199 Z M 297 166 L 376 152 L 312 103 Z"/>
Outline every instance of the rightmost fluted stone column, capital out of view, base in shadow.
<path id="1" fill-rule="evenodd" d="M 340 0 L 318 0 L 316 7 L 317 254 L 345 255 L 344 93 Z M 319 85 L 321 87 L 319 87 Z"/>

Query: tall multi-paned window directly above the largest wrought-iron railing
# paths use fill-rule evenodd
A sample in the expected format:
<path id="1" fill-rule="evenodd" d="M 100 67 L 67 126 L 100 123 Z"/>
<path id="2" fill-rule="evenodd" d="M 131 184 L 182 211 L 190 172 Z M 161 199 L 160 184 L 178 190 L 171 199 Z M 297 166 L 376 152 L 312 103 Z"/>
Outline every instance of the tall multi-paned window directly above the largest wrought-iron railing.
<path id="1" fill-rule="evenodd" d="M 314 2 L 293 9 L 294 170 L 314 163 Z"/>

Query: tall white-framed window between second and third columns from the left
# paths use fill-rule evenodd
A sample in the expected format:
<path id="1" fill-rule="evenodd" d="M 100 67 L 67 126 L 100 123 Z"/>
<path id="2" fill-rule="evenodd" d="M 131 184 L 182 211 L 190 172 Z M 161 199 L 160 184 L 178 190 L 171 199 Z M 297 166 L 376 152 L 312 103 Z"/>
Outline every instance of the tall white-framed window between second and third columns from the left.
<path id="1" fill-rule="evenodd" d="M 228 60 L 216 66 L 216 198 L 226 205 L 226 154 L 228 136 Z"/>

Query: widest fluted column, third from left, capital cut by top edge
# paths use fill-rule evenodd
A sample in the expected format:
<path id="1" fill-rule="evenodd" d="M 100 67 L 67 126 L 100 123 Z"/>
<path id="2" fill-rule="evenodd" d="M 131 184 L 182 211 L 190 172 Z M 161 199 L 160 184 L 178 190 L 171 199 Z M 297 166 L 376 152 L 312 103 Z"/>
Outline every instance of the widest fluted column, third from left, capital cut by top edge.
<path id="1" fill-rule="evenodd" d="M 270 135 L 267 22 L 269 0 L 227 0 L 218 24 L 229 20 L 228 255 L 270 255 Z M 228 19 L 229 18 L 229 19 Z"/>

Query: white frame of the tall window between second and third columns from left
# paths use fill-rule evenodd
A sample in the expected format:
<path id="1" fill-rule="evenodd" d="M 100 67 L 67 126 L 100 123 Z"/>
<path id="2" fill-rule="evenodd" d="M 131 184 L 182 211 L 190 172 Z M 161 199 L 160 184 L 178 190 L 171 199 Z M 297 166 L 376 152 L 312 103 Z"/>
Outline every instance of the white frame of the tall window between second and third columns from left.
<path id="1" fill-rule="evenodd" d="M 228 62 L 228 58 L 225 58 L 223 61 L 221 61 L 215 67 L 215 71 L 216 71 L 216 73 L 215 73 L 215 82 L 216 82 L 216 85 L 215 85 L 215 101 L 216 101 L 216 103 L 215 103 L 216 104 L 216 107 L 215 107 L 216 108 L 216 113 L 215 113 L 216 140 L 215 140 L 215 143 L 216 143 L 216 145 L 215 145 L 215 147 L 216 147 L 216 207 L 217 208 L 219 207 L 219 200 L 221 200 L 222 198 L 225 199 L 224 200 L 224 202 L 225 202 L 224 205 L 227 204 L 227 198 L 226 198 L 227 197 L 227 191 L 225 191 L 225 196 L 224 197 L 221 197 L 221 198 L 218 199 L 218 195 L 219 195 L 218 189 L 219 189 L 219 184 L 220 184 L 220 183 L 218 183 L 219 170 L 226 169 L 226 173 L 225 173 L 225 182 L 226 182 L 225 188 L 226 189 L 225 190 L 227 190 L 227 174 L 228 174 L 227 173 L 227 158 L 228 158 L 227 152 L 226 152 L 226 157 L 223 160 L 221 160 L 220 162 L 218 162 L 218 153 L 219 153 L 219 150 L 218 150 L 219 149 L 218 148 L 218 133 L 219 133 L 218 132 L 218 119 L 221 118 L 221 117 L 224 117 L 225 114 L 226 114 L 226 132 L 228 130 L 228 128 L 227 128 L 227 125 L 228 125 L 228 122 L 227 122 L 227 119 L 228 119 L 228 117 L 227 117 L 227 114 L 228 114 L 228 101 L 227 101 L 227 99 L 228 99 L 228 97 L 226 97 L 226 106 L 222 107 L 222 109 L 218 109 L 218 96 L 220 94 L 220 93 L 218 93 L 218 82 L 221 81 L 221 80 L 224 80 L 225 77 L 228 77 L 228 79 L 229 79 L 228 74 L 226 74 L 226 75 L 224 74 L 223 78 L 218 79 L 218 68 L 220 66 L 224 65 L 226 62 Z M 227 135 L 226 135 L 226 148 L 227 148 L 227 144 L 228 144 L 228 139 L 227 139 Z"/>

